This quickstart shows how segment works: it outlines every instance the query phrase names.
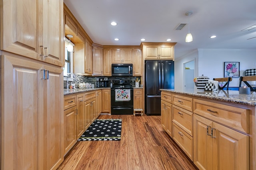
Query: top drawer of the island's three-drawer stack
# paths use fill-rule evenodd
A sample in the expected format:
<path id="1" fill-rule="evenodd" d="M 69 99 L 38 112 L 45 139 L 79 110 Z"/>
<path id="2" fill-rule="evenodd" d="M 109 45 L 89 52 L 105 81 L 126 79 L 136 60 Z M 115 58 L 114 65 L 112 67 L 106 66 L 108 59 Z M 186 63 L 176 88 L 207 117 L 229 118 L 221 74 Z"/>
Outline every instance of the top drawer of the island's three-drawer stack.
<path id="1" fill-rule="evenodd" d="M 182 107 L 188 111 L 193 111 L 193 99 L 185 96 L 172 95 L 172 104 Z"/>

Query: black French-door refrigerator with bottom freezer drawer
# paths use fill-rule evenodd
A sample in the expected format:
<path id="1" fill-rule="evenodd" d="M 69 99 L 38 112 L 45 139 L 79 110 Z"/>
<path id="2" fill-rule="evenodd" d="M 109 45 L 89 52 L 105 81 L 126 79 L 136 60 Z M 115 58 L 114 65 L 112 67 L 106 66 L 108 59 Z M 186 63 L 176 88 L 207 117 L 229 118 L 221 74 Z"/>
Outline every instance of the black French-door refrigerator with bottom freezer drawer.
<path id="1" fill-rule="evenodd" d="M 145 74 L 145 113 L 161 115 L 159 89 L 174 89 L 174 61 L 146 61 Z"/>

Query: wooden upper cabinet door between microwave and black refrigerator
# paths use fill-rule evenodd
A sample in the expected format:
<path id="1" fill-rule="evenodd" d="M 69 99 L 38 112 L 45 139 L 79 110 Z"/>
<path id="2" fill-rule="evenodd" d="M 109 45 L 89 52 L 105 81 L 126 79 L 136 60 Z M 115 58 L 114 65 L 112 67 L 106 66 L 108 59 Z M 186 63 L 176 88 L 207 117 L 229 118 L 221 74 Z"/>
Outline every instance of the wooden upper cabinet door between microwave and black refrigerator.
<path id="1" fill-rule="evenodd" d="M 141 49 L 133 49 L 133 76 L 142 76 Z"/>

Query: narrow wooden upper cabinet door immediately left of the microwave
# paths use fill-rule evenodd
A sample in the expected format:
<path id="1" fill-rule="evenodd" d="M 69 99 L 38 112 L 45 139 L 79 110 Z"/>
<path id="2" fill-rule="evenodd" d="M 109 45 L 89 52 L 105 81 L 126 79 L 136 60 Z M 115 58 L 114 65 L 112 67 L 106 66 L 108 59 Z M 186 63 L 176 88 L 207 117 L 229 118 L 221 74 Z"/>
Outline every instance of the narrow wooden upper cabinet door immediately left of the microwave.
<path id="1" fill-rule="evenodd" d="M 103 75 L 111 76 L 111 66 L 112 66 L 112 50 L 103 49 Z"/>

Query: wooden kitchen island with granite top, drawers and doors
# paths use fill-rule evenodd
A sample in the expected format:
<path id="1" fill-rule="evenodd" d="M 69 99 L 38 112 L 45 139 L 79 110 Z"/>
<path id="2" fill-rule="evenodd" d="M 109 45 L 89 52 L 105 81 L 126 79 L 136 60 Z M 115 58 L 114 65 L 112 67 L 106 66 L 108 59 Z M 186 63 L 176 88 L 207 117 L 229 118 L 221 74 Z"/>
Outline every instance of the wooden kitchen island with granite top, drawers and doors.
<path id="1" fill-rule="evenodd" d="M 160 90 L 162 127 L 199 169 L 255 170 L 255 92 Z"/>

